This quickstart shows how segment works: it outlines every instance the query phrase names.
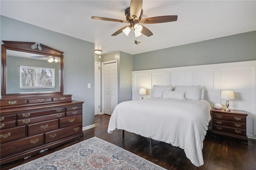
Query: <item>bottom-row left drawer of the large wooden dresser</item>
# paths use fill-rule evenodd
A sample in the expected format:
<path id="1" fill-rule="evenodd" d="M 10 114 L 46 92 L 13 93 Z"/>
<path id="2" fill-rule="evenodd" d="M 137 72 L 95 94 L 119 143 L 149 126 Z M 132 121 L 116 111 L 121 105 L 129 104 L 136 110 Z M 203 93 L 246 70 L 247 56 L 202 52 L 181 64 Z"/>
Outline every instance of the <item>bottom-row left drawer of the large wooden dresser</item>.
<path id="1" fill-rule="evenodd" d="M 22 138 L 20 140 L 15 140 L 13 142 L 1 144 L 1 158 L 9 154 L 19 153 L 22 150 L 27 150 L 36 146 L 40 146 L 43 144 L 43 142 L 43 134 L 38 134 L 36 136 L 30 136 L 27 138 Z"/>

